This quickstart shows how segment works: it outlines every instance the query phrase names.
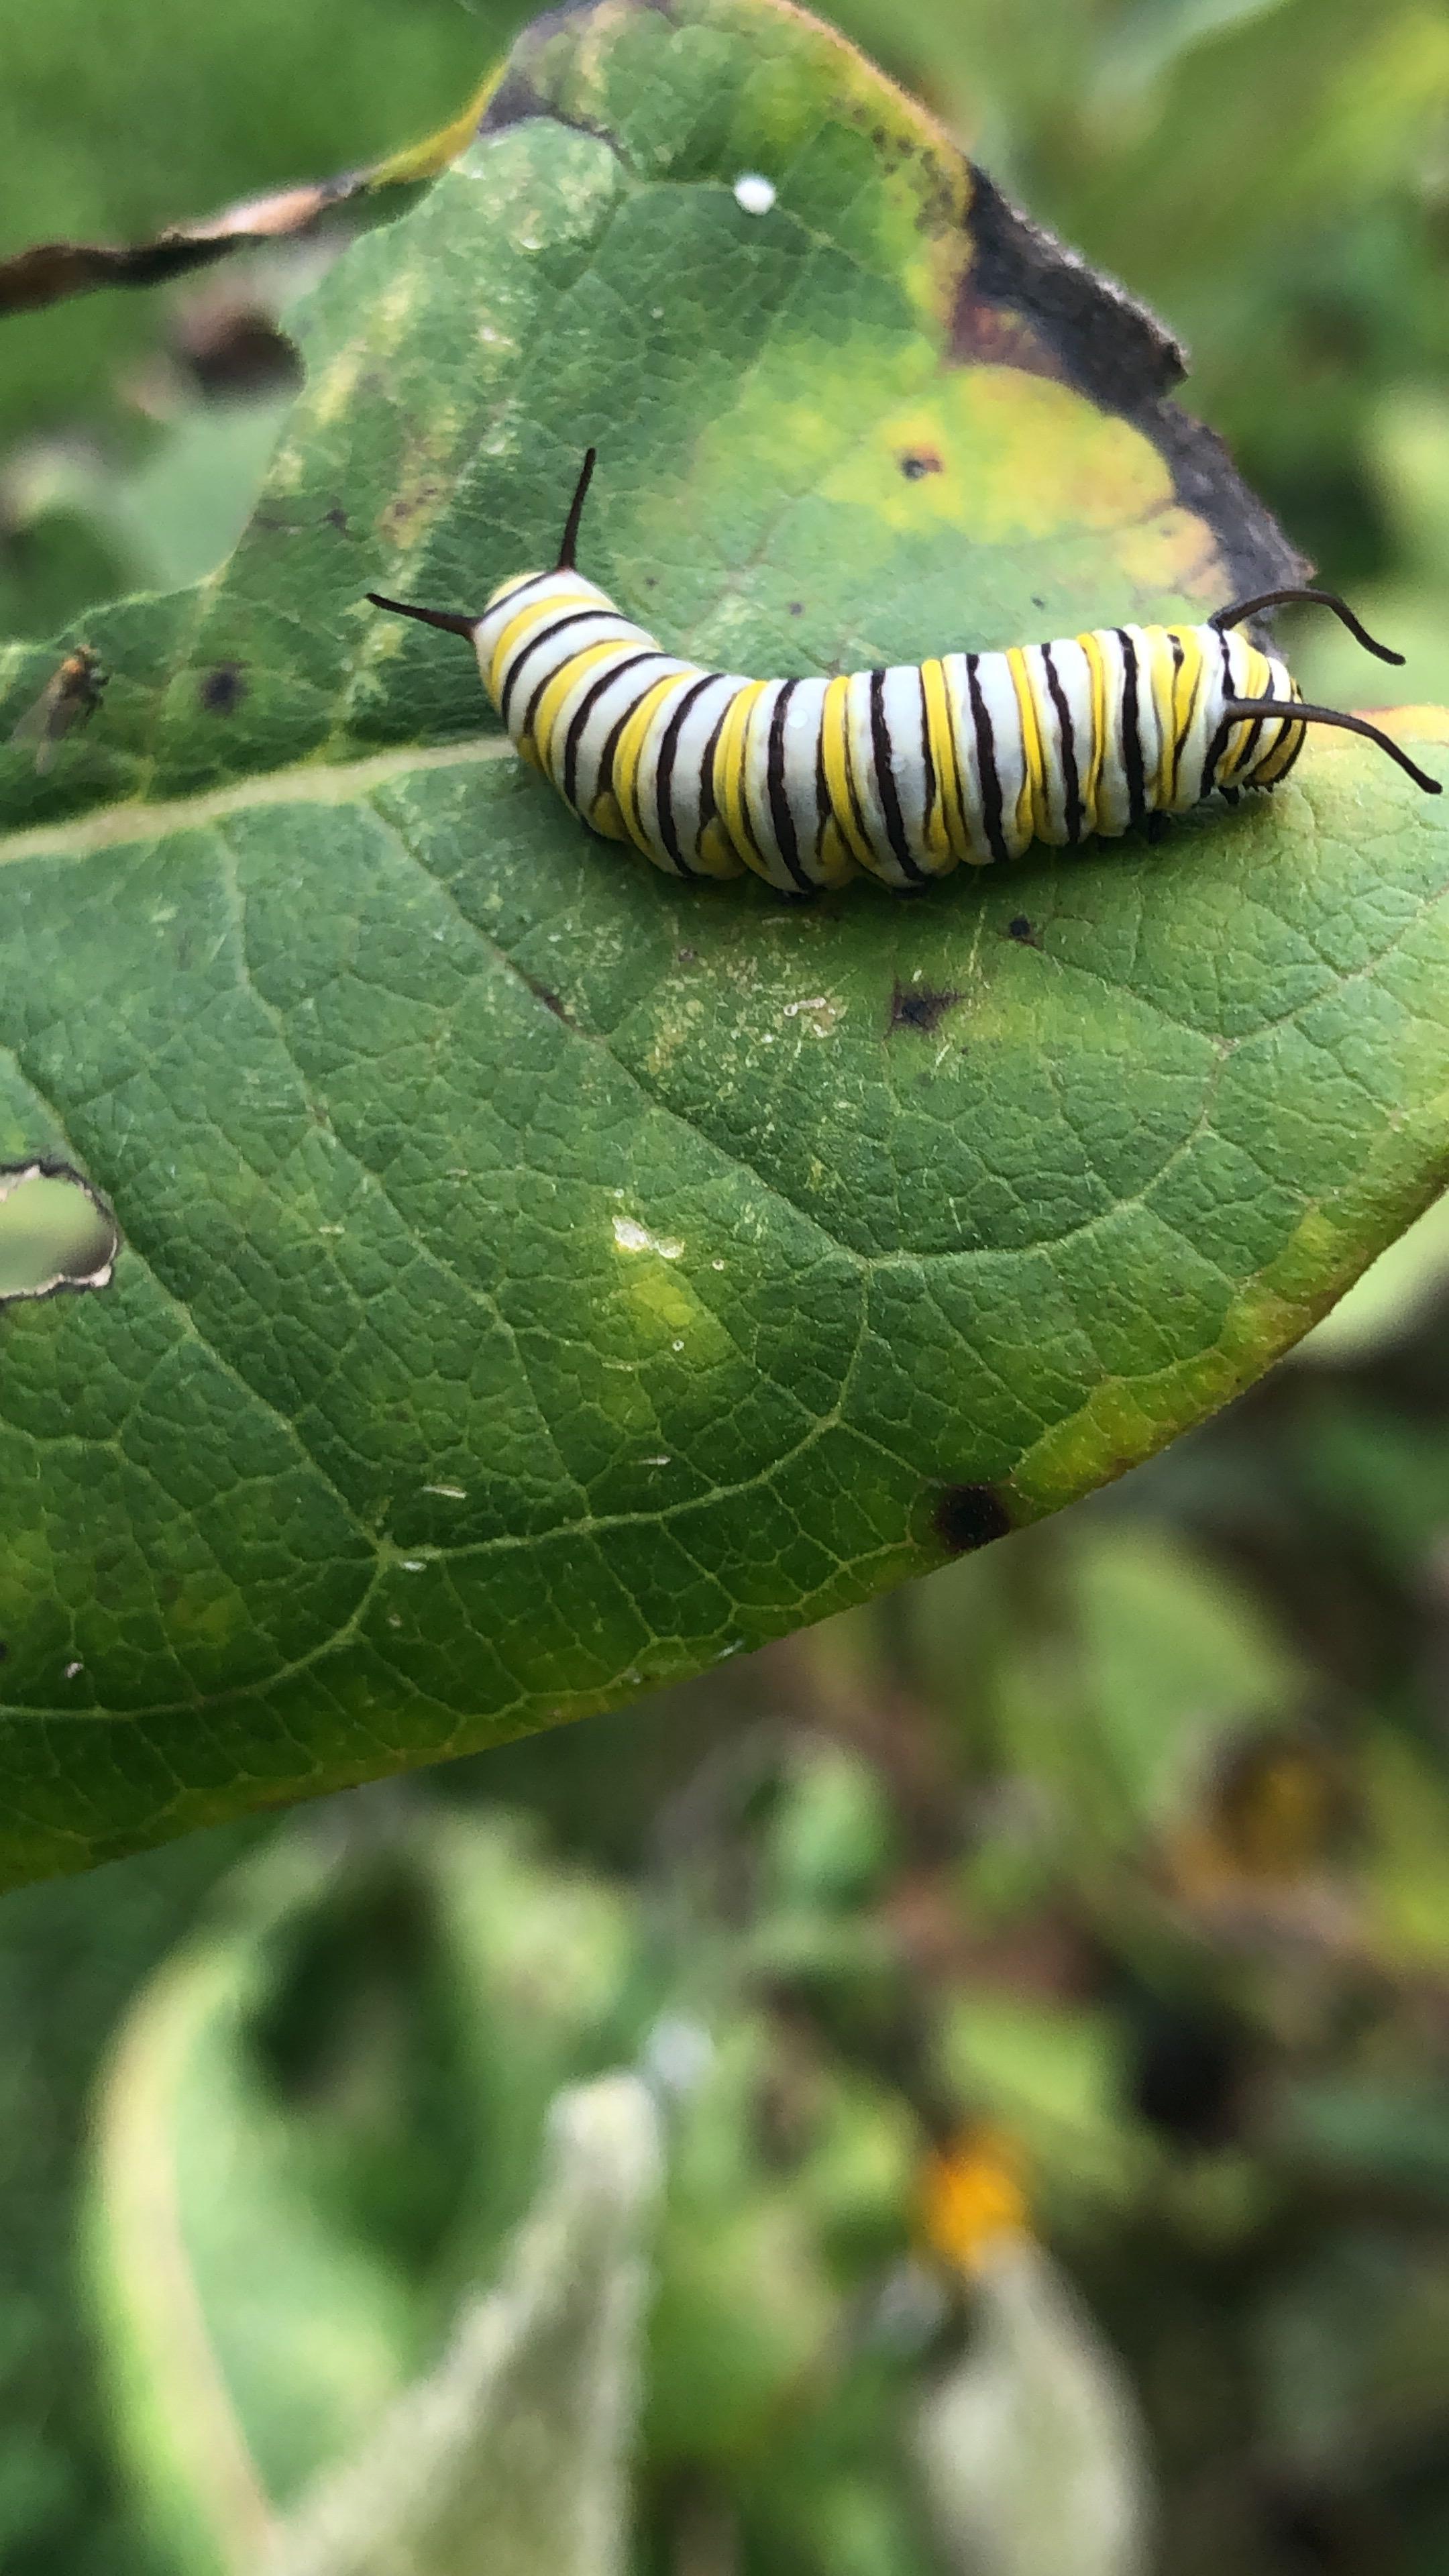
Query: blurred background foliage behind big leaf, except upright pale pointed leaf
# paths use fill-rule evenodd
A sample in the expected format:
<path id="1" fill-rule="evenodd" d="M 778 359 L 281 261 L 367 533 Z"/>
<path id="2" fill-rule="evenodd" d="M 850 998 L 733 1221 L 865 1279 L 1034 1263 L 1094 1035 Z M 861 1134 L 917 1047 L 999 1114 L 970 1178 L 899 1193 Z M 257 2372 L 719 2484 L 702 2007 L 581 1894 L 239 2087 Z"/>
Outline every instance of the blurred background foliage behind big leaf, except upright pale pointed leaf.
<path id="1" fill-rule="evenodd" d="M 0 0 L 0 252 L 405 144 L 521 15 Z M 1449 698 L 1439 0 L 838 15 L 1189 340 L 1191 407 Z M 5 325 L 0 631 L 227 549 L 327 255 Z M 1336 634 L 1297 662 L 1364 703 Z M 170 2177 L 294 2506 L 508 2269 L 549 2094 L 619 2063 L 668 2164 L 639 2576 L 1441 2576 L 1444 1206 L 1055 1525 L 621 1716 L 10 1896 L 8 2576 L 227 2563 L 121 2174 Z"/>

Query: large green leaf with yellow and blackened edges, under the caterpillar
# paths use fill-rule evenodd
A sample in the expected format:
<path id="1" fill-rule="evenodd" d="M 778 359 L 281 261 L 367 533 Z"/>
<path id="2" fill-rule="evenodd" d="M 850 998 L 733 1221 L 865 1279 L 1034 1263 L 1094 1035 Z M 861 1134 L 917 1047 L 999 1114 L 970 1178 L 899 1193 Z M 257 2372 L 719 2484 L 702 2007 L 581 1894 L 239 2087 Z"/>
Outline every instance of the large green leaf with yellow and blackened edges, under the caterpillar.
<path id="1" fill-rule="evenodd" d="M 1449 1159 L 1449 835 L 1369 750 L 1160 848 L 789 909 L 588 842 L 462 647 L 364 605 L 547 562 L 588 440 L 588 569 L 745 670 L 1292 567 L 1171 343 L 838 36 L 541 21 L 307 355 L 229 567 L 90 616 L 103 711 L 0 752 L 0 1157 L 124 1236 L 103 1296 L 8 1314 L 10 1878 L 1034 1520 L 1245 1386 Z M 52 670 L 0 654 L 0 739 Z"/>

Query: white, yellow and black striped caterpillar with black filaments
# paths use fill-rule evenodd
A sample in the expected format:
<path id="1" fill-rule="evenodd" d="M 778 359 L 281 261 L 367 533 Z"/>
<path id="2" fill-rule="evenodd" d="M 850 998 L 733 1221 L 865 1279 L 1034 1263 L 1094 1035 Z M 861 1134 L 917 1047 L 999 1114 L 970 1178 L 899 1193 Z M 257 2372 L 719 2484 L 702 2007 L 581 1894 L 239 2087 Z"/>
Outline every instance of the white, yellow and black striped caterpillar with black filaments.
<path id="1" fill-rule="evenodd" d="M 482 685 L 526 760 L 608 840 L 668 876 L 740 876 L 781 894 L 841 886 L 859 868 L 895 889 L 957 863 L 1021 858 L 1031 840 L 1116 840 L 1204 796 L 1274 788 L 1310 724 L 1366 734 L 1428 793 L 1439 781 L 1361 716 L 1305 706 L 1287 665 L 1235 629 L 1271 590 L 1204 626 L 1104 626 L 1011 652 L 954 652 L 835 680 L 745 680 L 660 644 L 575 569 L 596 451 L 552 572 L 521 572 L 480 618 L 374 608 L 467 636 Z"/>

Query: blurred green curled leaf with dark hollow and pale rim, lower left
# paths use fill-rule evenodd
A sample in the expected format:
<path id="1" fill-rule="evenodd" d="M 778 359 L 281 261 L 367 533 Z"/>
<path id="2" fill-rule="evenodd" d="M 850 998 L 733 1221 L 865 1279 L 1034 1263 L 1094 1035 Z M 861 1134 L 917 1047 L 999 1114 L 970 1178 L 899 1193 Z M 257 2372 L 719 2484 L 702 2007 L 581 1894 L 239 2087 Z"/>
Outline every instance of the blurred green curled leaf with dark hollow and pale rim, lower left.
<path id="1" fill-rule="evenodd" d="M 88 2254 L 119 2447 L 188 2576 L 250 2576 L 291 2509 L 302 2555 L 315 2481 L 394 2401 L 413 2421 L 443 2318 L 539 2192 L 549 2105 L 593 2099 L 570 2084 L 632 2043 L 629 1955 L 619 1901 L 508 1819 L 353 1816 L 235 1870 L 142 1989 Z M 477 2393 L 464 2347 L 438 2432 Z"/>

